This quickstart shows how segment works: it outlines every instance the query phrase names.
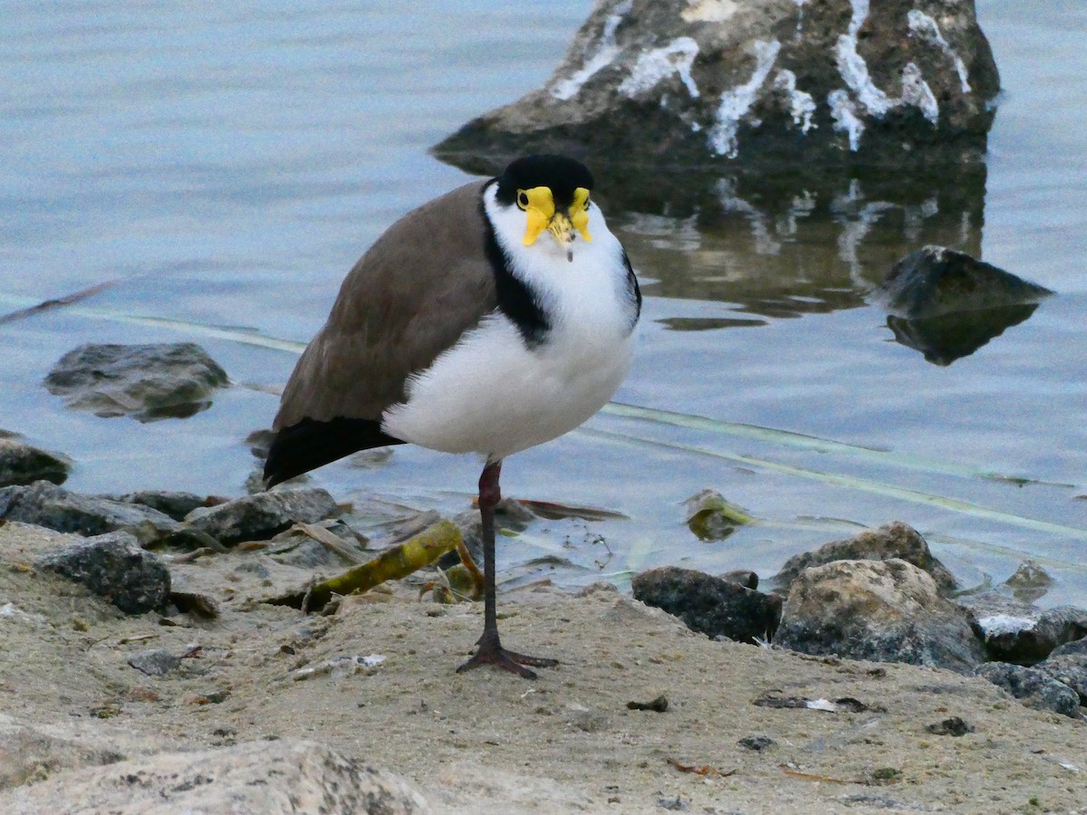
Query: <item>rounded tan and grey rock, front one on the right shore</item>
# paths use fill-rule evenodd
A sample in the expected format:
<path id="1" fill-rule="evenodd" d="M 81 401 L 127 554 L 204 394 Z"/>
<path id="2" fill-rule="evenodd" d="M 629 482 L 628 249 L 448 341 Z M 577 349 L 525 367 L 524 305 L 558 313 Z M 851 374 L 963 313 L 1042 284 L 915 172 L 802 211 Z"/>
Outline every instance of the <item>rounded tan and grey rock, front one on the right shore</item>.
<path id="1" fill-rule="evenodd" d="M 962 674 L 985 659 L 966 612 L 899 559 L 835 561 L 792 581 L 776 644 L 809 654 L 934 665 Z"/>

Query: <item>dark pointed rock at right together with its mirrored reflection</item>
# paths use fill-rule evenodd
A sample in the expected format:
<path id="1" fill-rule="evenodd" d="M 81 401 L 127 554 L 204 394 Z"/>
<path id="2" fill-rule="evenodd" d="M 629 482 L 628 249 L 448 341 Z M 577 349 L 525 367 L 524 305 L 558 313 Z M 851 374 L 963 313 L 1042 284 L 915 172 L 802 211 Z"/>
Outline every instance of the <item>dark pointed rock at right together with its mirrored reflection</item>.
<path id="1" fill-rule="evenodd" d="M 891 268 L 873 292 L 895 339 L 950 365 L 1026 321 L 1053 292 L 964 252 L 928 246 Z"/>

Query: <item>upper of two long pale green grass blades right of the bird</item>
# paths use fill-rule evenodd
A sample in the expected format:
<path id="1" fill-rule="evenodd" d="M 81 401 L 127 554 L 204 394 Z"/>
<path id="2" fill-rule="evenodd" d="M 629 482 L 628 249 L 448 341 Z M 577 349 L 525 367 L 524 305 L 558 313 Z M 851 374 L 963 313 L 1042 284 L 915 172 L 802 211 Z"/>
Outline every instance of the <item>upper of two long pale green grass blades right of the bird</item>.
<path id="1" fill-rule="evenodd" d="M 875 464 L 892 465 L 907 469 L 920 469 L 926 473 L 942 473 L 966 478 L 984 478 L 987 480 L 1004 481 L 1013 485 L 1044 484 L 1050 487 L 1072 488 L 1070 484 L 1054 484 L 1051 481 L 1038 481 L 1030 478 L 1019 478 L 1005 476 L 998 473 L 990 473 L 969 464 L 957 464 L 954 462 L 936 461 L 923 459 L 914 455 L 895 453 L 889 450 L 861 447 L 858 444 L 847 444 L 832 439 L 822 439 L 817 436 L 804 436 L 803 434 L 790 430 L 777 430 L 772 427 L 759 427 L 738 422 L 723 422 L 721 419 L 698 416 L 689 413 L 676 413 L 674 411 L 663 411 L 657 408 L 642 408 L 636 404 L 624 402 L 610 402 L 600 411 L 609 416 L 620 416 L 622 418 L 634 418 L 658 425 L 669 425 L 672 427 L 684 427 L 690 430 L 705 430 L 710 432 L 735 436 L 738 438 L 764 441 L 771 444 L 799 448 L 801 450 L 812 450 L 819 453 L 837 453 L 849 455 L 854 459 L 862 459 Z"/>

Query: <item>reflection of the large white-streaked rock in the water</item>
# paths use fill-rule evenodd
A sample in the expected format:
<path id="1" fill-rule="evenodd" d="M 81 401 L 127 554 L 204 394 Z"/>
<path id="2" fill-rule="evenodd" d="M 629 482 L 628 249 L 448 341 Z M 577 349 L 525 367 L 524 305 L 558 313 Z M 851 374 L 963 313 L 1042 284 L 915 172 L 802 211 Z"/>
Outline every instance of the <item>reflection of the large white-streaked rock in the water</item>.
<path id="1" fill-rule="evenodd" d="M 980 164 L 908 178 L 600 175 L 599 198 L 648 294 L 727 302 L 749 315 L 860 308 L 921 244 L 980 251 Z"/>

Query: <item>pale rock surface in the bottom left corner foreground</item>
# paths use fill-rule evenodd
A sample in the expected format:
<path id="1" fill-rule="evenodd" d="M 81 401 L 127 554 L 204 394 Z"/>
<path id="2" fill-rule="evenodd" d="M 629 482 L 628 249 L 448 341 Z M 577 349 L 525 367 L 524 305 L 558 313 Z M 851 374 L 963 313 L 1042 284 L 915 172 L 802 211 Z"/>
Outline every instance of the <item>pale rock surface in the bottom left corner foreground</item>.
<path id="1" fill-rule="evenodd" d="M 425 815 L 407 780 L 309 741 L 160 753 L 61 773 L 0 795 L 10 815 L 43 812 Z"/>

